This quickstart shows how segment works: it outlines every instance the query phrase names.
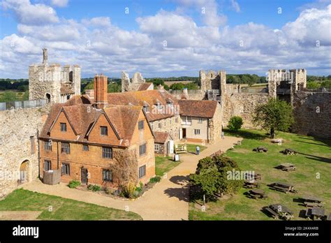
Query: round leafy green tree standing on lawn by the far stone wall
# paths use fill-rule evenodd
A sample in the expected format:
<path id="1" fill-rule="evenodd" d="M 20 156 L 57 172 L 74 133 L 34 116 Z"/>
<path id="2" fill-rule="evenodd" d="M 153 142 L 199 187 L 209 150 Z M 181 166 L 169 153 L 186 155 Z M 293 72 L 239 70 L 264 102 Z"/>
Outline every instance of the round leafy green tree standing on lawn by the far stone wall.
<path id="1" fill-rule="evenodd" d="M 274 138 L 275 131 L 288 131 L 293 124 L 293 108 L 286 101 L 271 98 L 266 104 L 258 105 L 253 116 L 256 125 L 270 131 L 270 138 Z"/>

